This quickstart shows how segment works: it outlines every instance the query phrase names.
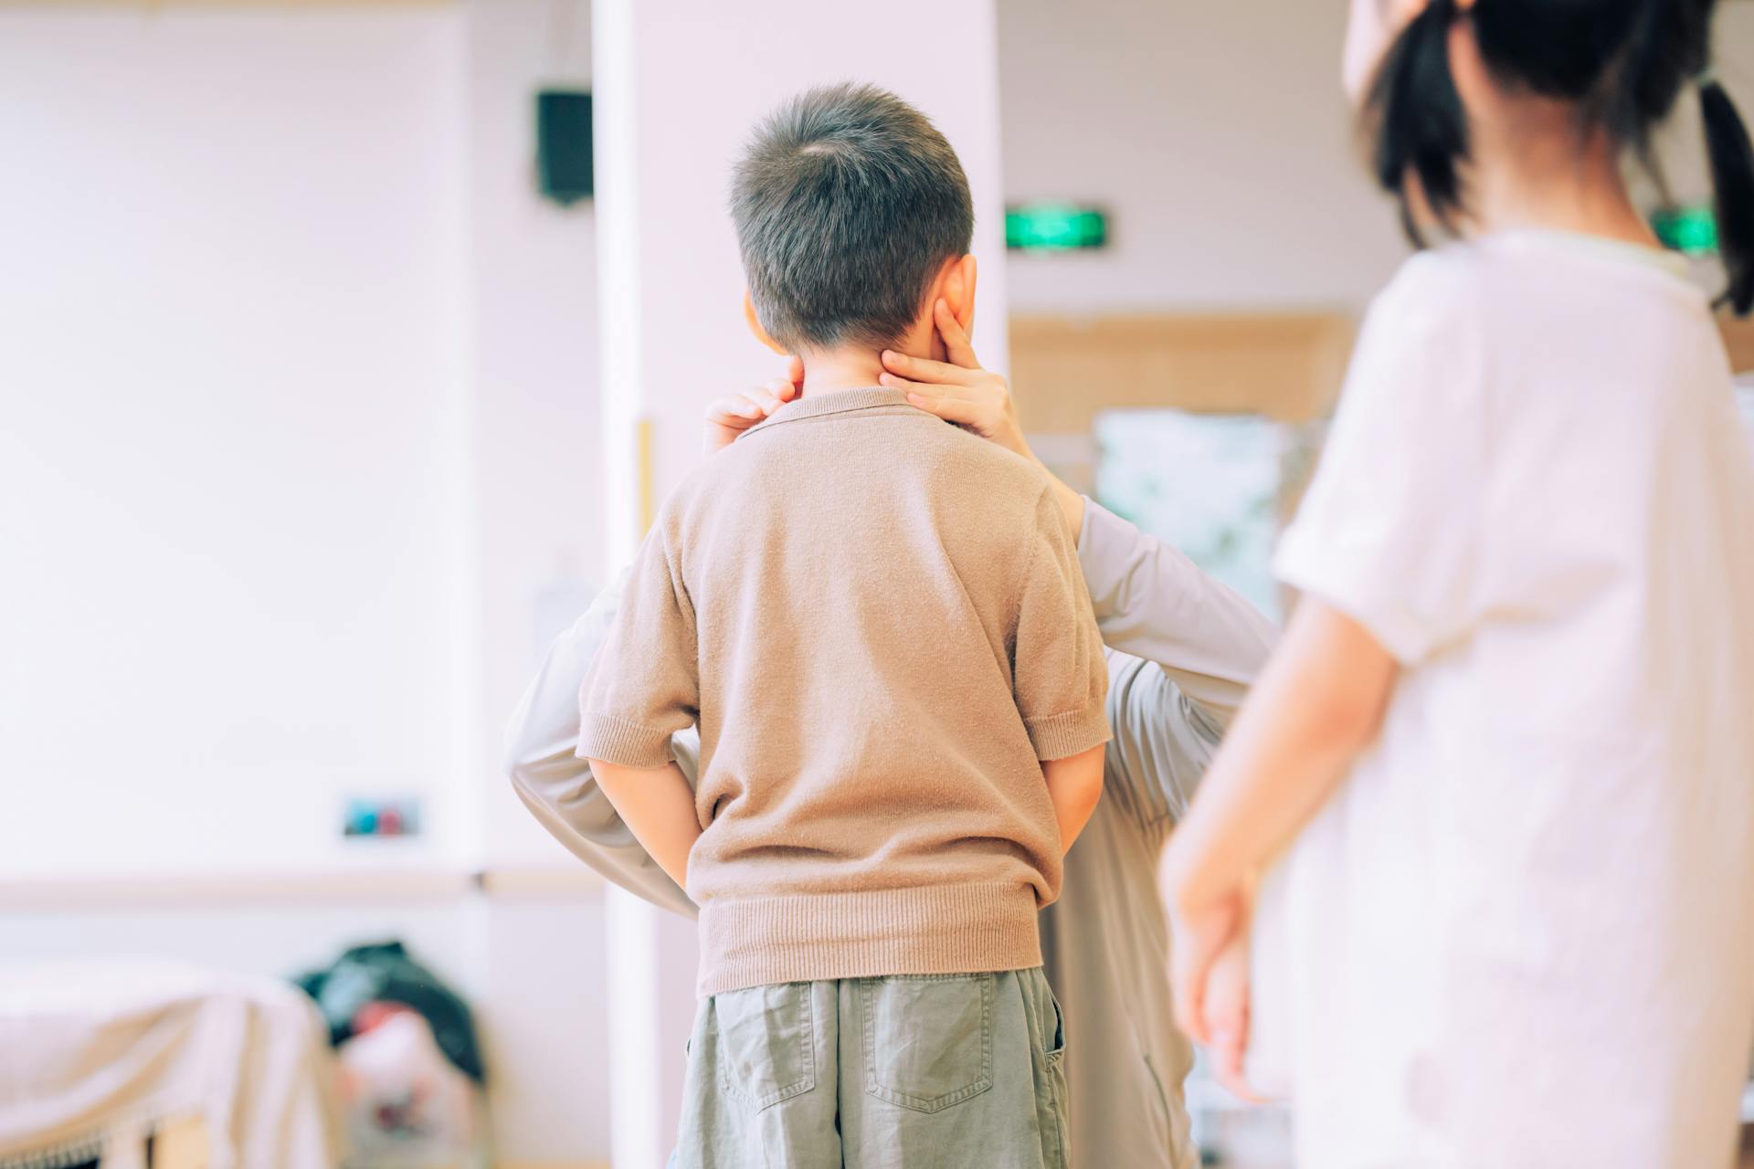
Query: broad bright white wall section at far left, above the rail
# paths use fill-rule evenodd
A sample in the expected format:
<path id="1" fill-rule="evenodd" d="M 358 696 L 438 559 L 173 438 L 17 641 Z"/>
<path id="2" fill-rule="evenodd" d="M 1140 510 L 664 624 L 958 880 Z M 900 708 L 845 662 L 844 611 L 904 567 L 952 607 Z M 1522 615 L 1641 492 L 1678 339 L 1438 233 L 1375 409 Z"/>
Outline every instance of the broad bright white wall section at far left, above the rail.
<path id="1" fill-rule="evenodd" d="M 0 875 L 456 827 L 447 9 L 0 16 Z"/>

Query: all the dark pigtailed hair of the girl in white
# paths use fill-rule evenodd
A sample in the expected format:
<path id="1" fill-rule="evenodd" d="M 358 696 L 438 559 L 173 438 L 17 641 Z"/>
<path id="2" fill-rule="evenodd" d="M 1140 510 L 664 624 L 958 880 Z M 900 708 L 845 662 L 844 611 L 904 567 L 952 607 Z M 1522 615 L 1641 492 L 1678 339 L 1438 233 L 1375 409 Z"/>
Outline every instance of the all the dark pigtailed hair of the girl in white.
<path id="1" fill-rule="evenodd" d="M 1375 172 L 1400 198 L 1401 224 L 1422 247 L 1414 200 L 1445 228 L 1463 210 L 1459 166 L 1468 117 L 1449 70 L 1449 30 L 1473 25 L 1480 56 L 1507 86 L 1573 102 L 1649 165 L 1651 135 L 1684 88 L 1696 86 L 1717 193 L 1717 235 L 1729 272 L 1722 300 L 1754 308 L 1754 144 L 1710 74 L 1717 0 L 1431 0 L 1384 56 L 1365 102 Z"/>

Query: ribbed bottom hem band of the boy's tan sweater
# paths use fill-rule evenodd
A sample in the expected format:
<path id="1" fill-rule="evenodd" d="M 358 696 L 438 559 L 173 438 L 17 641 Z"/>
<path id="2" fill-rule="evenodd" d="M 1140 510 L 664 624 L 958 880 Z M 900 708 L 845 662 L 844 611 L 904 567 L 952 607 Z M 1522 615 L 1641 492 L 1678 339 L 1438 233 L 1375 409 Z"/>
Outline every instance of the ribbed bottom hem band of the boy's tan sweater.
<path id="1" fill-rule="evenodd" d="M 977 974 L 1042 964 L 1031 885 L 707 897 L 700 997 L 786 981 Z"/>

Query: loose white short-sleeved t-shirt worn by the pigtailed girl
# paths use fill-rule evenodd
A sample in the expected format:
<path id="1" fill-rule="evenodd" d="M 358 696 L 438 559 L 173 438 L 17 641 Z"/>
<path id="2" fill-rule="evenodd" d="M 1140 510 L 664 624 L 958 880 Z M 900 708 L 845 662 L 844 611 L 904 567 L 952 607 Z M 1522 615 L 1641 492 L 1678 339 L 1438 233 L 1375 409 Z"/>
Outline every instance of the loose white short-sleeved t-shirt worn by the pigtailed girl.
<path id="1" fill-rule="evenodd" d="M 1401 662 L 1263 889 L 1256 1025 L 1300 1169 L 1726 1165 L 1754 457 L 1707 298 L 1586 237 L 1414 258 L 1277 570 Z"/>

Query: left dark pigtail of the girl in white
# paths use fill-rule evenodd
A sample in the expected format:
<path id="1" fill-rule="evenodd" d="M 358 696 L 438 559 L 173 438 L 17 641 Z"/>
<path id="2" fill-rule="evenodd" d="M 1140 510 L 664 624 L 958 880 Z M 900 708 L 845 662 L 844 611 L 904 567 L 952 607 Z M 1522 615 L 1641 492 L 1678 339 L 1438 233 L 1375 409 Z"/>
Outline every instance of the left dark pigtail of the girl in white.
<path id="1" fill-rule="evenodd" d="M 1401 228 L 1424 247 L 1414 198 L 1449 226 L 1461 210 L 1461 163 L 1468 117 L 1449 72 L 1449 28 L 1456 0 L 1431 0 L 1394 40 L 1372 86 L 1377 182 L 1401 202 Z M 1414 181 L 1414 189 L 1408 189 Z"/>

